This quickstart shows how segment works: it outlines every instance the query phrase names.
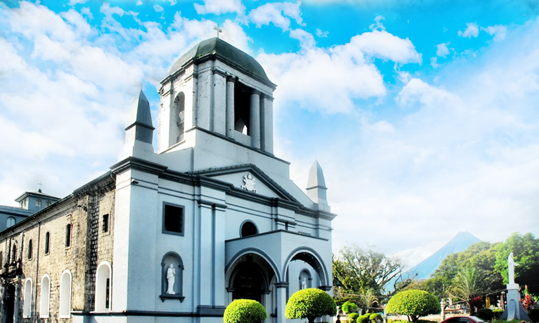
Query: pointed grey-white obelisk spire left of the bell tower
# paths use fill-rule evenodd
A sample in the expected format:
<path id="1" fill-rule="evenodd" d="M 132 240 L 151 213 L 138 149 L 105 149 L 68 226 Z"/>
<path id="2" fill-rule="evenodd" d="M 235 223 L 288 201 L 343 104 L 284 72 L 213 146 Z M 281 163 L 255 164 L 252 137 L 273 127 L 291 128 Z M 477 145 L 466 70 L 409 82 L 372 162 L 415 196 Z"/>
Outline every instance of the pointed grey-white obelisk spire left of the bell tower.
<path id="1" fill-rule="evenodd" d="M 129 116 L 126 131 L 135 127 L 135 139 L 151 144 L 154 127 L 151 124 L 150 102 L 146 95 L 140 90 L 139 97 L 131 103 L 131 114 Z"/>

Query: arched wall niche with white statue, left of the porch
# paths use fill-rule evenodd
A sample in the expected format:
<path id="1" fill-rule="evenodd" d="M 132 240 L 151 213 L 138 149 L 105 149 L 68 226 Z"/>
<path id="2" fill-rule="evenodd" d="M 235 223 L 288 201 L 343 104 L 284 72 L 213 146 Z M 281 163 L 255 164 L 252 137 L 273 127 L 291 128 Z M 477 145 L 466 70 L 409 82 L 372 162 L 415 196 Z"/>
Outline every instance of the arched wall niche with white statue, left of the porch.
<path id="1" fill-rule="evenodd" d="M 167 252 L 161 261 L 161 301 L 165 299 L 184 300 L 183 260 L 176 252 Z"/>

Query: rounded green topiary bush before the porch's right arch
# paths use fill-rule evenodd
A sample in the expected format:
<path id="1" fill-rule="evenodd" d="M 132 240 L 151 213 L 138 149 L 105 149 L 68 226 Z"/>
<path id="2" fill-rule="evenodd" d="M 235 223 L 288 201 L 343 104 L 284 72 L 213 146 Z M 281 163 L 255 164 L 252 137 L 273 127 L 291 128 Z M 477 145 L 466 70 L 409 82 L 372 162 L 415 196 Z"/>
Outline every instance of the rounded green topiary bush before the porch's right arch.
<path id="1" fill-rule="evenodd" d="M 335 315 L 337 307 L 333 297 L 328 293 L 307 288 L 292 294 L 286 303 L 285 317 L 287 319 L 308 319 L 313 323 L 315 318 L 323 315 Z"/>

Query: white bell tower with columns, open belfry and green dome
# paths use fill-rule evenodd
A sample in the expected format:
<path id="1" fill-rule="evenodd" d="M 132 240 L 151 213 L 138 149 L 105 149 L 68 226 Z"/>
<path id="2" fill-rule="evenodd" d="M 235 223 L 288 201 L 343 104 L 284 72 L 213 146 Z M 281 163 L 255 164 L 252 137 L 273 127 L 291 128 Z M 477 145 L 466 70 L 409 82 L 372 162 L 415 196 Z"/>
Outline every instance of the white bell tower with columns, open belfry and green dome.
<path id="1" fill-rule="evenodd" d="M 202 145 L 196 135 L 202 131 L 273 155 L 276 85 L 246 53 L 219 38 L 204 40 L 172 65 L 161 85 L 157 153 Z"/>

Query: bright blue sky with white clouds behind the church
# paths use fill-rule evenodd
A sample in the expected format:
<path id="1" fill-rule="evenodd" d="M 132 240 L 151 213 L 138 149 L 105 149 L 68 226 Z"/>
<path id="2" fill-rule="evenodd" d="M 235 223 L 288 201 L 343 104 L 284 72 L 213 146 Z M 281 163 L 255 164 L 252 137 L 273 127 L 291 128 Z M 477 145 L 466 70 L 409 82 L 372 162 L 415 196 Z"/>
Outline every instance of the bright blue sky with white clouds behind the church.
<path id="1" fill-rule="evenodd" d="M 413 265 L 461 230 L 539 234 L 537 13 L 502 0 L 0 3 L 0 203 L 105 172 L 141 85 L 155 119 L 158 82 L 218 24 L 278 85 L 275 153 L 296 184 L 322 165 L 336 249 L 377 245 Z"/>

